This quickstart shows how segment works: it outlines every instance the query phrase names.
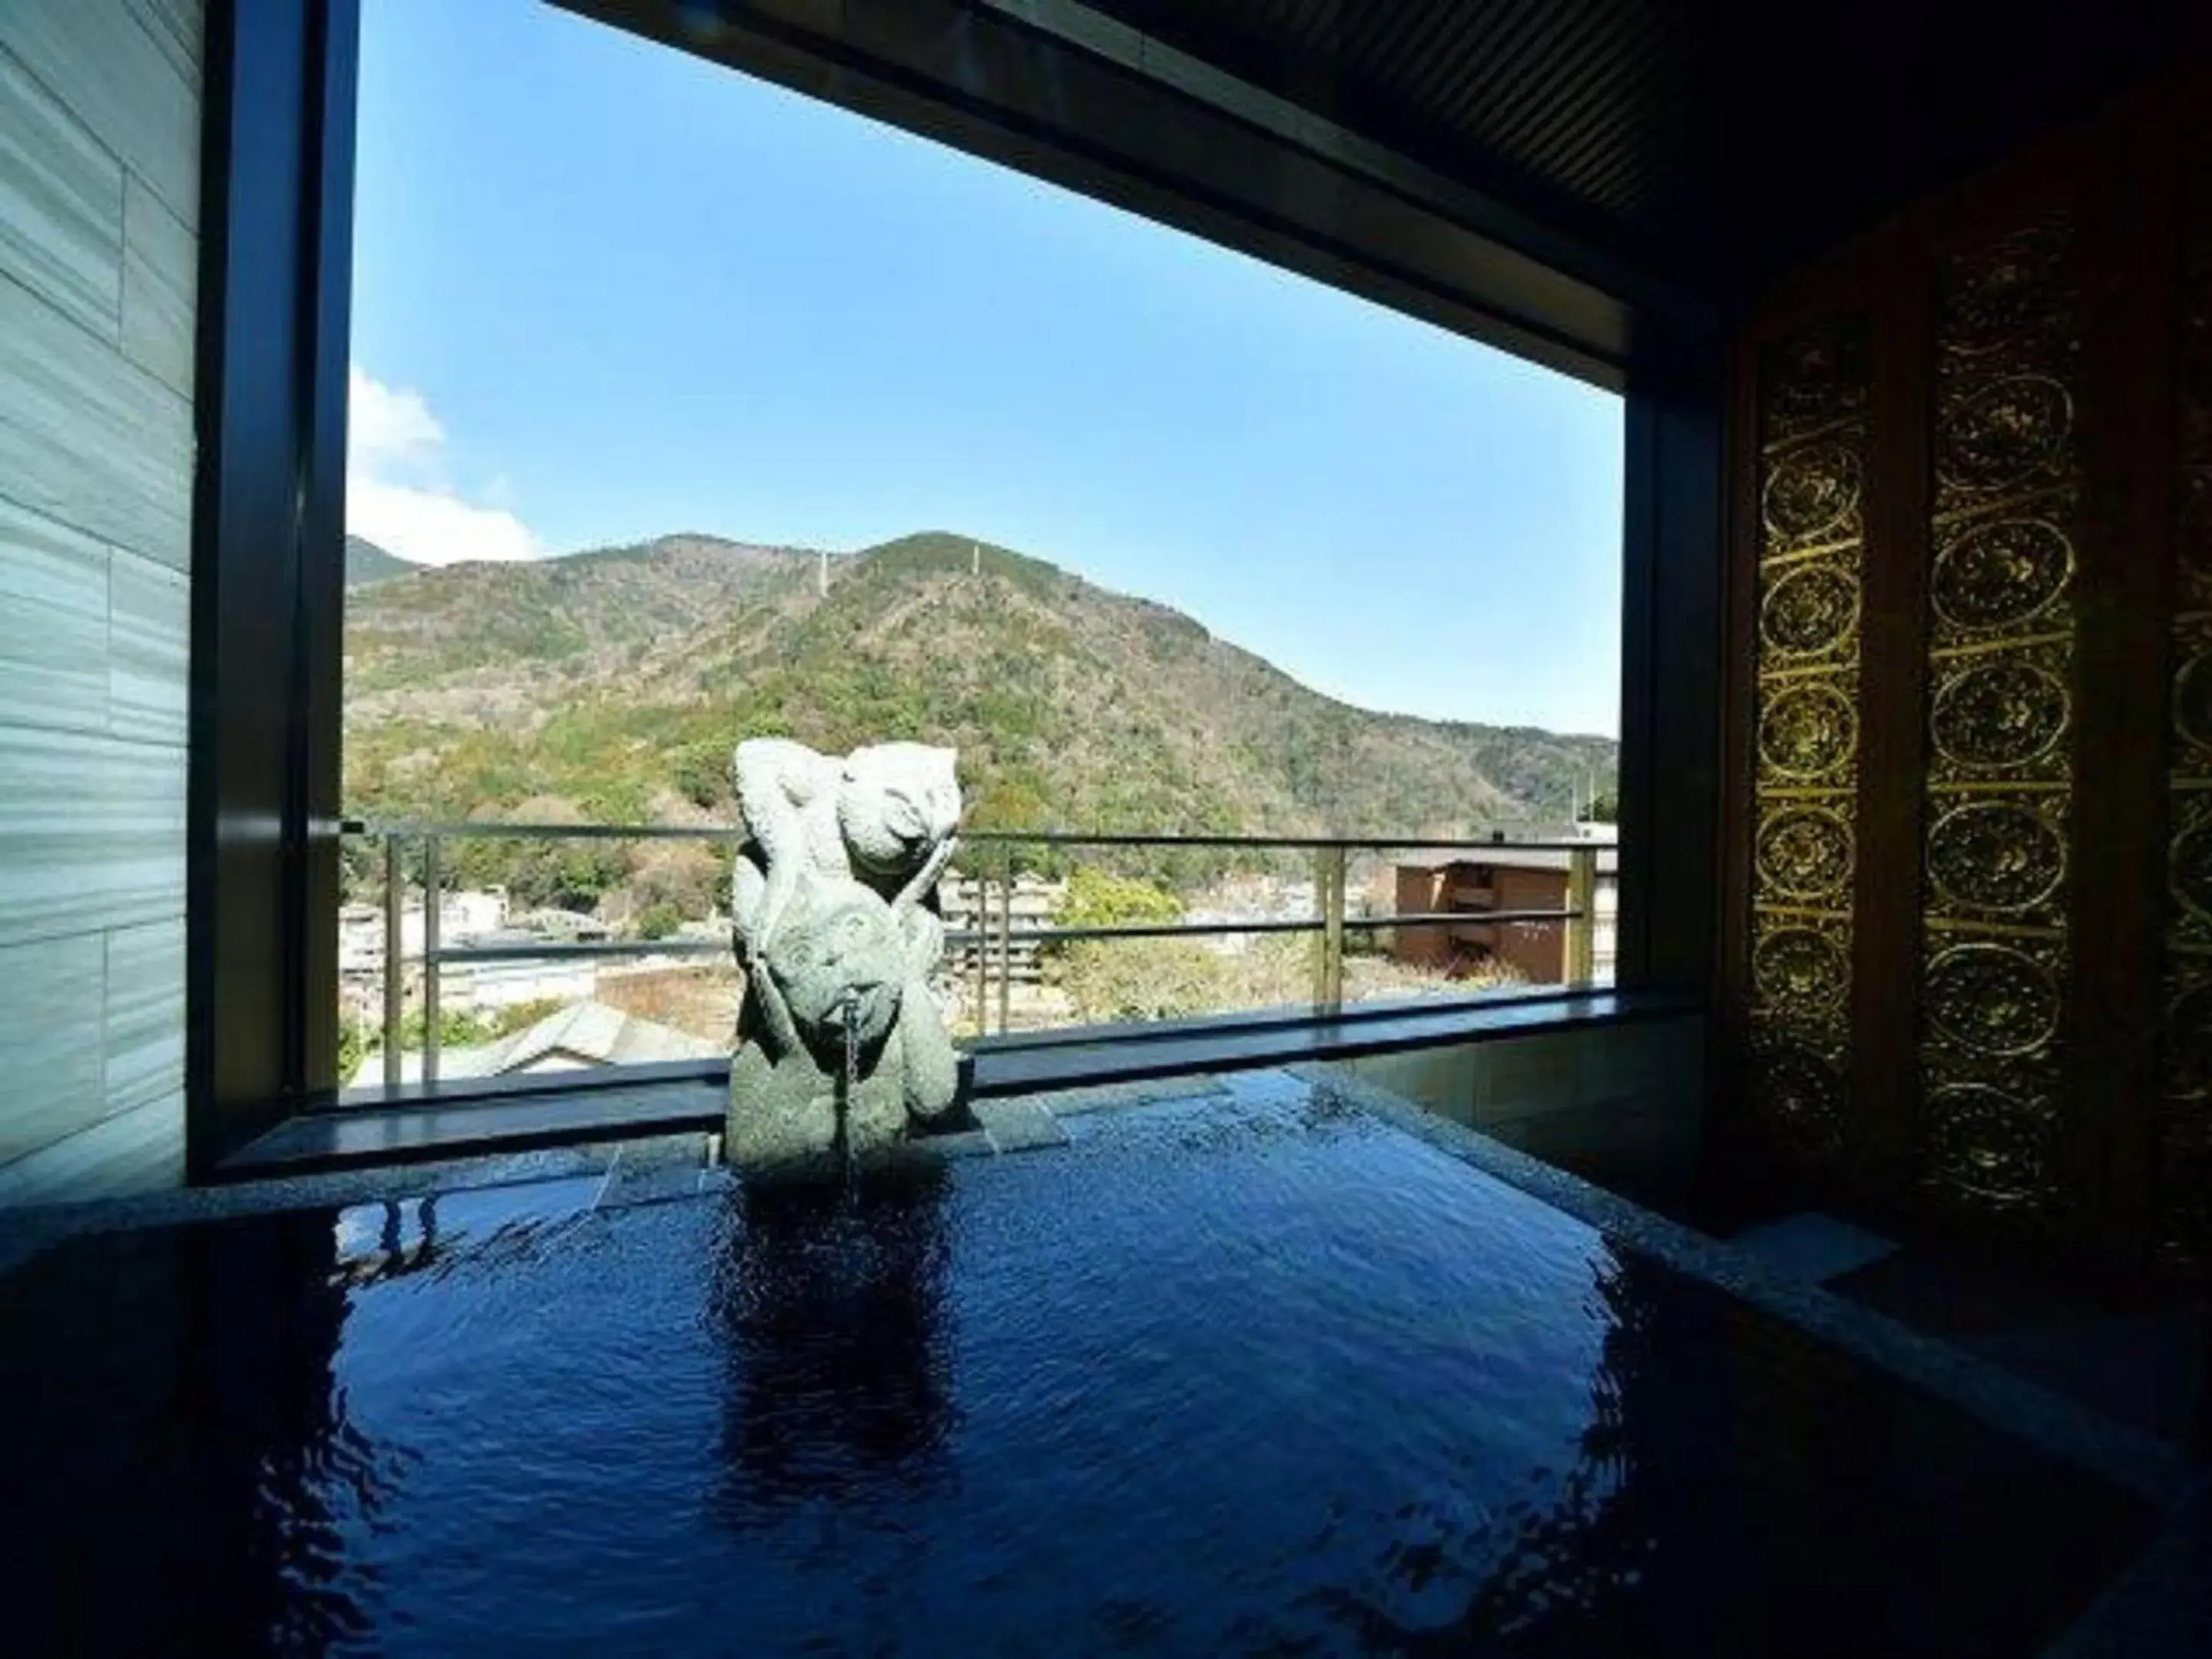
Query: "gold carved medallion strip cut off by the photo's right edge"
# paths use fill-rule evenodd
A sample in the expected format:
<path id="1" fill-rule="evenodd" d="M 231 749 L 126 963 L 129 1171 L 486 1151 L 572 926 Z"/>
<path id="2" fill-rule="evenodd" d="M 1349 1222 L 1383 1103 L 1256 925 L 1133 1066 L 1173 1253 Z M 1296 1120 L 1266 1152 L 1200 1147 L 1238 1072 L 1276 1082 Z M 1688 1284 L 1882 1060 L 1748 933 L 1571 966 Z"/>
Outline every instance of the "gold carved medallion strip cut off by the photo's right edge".
<path id="1" fill-rule="evenodd" d="M 2212 1265 L 2212 137 L 2190 155 L 2177 354 L 2159 1252 Z"/>

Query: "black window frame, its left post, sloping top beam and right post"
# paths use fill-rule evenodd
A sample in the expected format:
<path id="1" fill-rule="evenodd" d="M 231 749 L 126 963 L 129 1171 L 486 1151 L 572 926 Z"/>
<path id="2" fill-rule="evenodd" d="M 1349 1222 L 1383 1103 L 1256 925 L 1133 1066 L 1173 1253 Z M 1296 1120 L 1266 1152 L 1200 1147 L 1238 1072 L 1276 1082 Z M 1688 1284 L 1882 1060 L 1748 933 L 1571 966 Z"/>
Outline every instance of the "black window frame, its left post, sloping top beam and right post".
<path id="1" fill-rule="evenodd" d="M 1714 303 L 1237 82 L 1164 75 L 1157 44 L 1126 29 L 1079 35 L 978 0 L 555 2 L 1619 392 L 1615 973 L 1628 993 L 1712 995 L 1725 677 Z M 701 27 L 708 11 L 714 27 Z M 338 1091 L 358 38 L 361 0 L 208 4 L 188 1179 Z"/>

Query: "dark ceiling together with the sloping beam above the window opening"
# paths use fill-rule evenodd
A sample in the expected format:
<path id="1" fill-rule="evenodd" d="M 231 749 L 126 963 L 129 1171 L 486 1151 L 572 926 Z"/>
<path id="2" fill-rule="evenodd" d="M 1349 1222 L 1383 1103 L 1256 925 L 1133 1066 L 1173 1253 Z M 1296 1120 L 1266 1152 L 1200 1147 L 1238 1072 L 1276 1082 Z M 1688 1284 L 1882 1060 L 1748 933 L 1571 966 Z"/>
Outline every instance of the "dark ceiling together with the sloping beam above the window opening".
<path id="1" fill-rule="evenodd" d="M 2205 0 L 553 2 L 1615 389 L 2212 49 Z"/>

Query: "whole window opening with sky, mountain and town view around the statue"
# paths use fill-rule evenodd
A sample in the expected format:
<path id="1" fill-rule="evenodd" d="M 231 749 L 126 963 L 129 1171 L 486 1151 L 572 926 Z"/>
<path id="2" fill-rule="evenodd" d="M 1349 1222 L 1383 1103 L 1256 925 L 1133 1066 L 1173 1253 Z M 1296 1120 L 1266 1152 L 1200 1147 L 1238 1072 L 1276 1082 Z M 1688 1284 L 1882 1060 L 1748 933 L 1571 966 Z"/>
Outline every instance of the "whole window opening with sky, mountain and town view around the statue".
<path id="1" fill-rule="evenodd" d="M 1621 465 L 1248 254 L 365 0 L 341 1084 L 728 1053 L 745 737 L 958 750 L 956 1035 L 1606 980 Z"/>

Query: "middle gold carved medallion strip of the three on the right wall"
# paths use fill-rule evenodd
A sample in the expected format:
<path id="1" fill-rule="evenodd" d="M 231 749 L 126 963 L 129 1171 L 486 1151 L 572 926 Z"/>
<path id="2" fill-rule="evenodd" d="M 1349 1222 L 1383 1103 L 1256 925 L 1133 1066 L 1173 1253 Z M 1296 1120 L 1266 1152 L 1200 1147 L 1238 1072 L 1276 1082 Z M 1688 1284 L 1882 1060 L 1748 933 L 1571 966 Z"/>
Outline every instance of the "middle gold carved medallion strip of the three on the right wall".
<path id="1" fill-rule="evenodd" d="M 2073 860 L 2075 232 L 1949 254 L 1936 321 L 1920 938 L 1922 1179 L 2046 1217 Z"/>

